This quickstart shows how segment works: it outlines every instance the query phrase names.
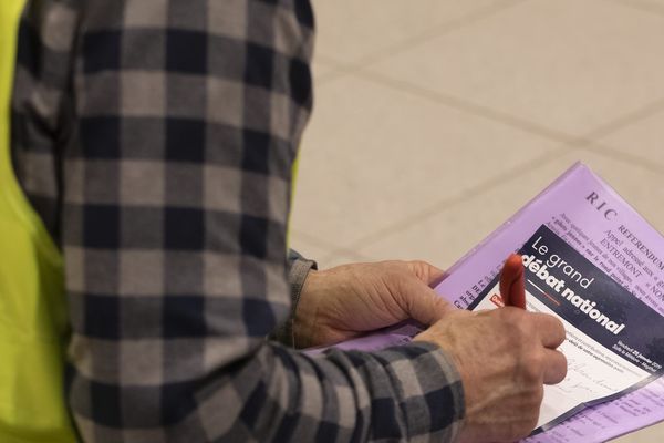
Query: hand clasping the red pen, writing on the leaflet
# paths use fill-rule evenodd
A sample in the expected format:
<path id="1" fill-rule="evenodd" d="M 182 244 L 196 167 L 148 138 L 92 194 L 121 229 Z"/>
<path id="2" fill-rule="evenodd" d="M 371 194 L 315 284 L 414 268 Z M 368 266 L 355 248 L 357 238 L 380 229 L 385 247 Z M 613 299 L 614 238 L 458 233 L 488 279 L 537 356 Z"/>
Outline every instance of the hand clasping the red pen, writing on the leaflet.
<path id="1" fill-rule="evenodd" d="M 557 351 L 560 320 L 517 308 L 450 312 L 415 340 L 438 344 L 454 359 L 464 384 L 461 442 L 506 442 L 536 426 L 543 384 L 567 374 Z"/>

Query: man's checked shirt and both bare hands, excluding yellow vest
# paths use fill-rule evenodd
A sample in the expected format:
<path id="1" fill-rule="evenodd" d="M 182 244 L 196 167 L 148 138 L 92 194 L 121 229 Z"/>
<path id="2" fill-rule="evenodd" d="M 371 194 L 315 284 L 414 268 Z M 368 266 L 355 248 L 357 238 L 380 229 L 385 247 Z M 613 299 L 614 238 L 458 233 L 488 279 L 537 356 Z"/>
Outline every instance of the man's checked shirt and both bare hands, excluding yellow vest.
<path id="1" fill-rule="evenodd" d="M 510 441 L 564 377 L 559 321 L 457 311 L 427 264 L 286 260 L 312 45 L 307 0 L 28 3 L 13 165 L 64 256 L 84 441 Z M 266 339 L 406 318 L 373 353 Z"/>

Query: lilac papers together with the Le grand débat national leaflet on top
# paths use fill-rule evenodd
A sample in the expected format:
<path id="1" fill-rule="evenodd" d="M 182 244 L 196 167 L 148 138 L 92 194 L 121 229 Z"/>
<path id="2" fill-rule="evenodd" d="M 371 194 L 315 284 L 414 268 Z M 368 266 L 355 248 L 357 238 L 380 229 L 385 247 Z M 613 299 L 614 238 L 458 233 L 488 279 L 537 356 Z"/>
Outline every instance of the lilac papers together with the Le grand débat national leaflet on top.
<path id="1" fill-rule="evenodd" d="M 526 442 L 603 442 L 664 421 L 664 237 L 578 163 L 458 260 L 436 292 L 460 309 L 501 306 L 498 274 L 523 257 L 529 311 L 559 317 L 568 375 L 544 388 Z M 340 343 L 411 341 L 403 323 Z"/>

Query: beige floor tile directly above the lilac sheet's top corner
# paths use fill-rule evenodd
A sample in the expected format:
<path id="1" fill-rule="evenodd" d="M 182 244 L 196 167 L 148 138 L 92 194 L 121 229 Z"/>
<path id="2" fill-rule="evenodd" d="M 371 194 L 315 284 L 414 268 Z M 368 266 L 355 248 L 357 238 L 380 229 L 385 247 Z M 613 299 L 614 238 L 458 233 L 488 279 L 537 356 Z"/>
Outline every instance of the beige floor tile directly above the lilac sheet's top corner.
<path id="1" fill-rule="evenodd" d="M 652 202 L 664 200 L 664 175 L 596 153 L 574 152 L 552 157 L 541 167 L 487 189 L 423 220 L 414 219 L 403 231 L 387 236 L 359 253 L 374 259 L 425 259 L 447 268 L 501 225 L 575 161 L 582 161 L 614 187 L 655 228 L 664 233 L 664 212 Z"/>

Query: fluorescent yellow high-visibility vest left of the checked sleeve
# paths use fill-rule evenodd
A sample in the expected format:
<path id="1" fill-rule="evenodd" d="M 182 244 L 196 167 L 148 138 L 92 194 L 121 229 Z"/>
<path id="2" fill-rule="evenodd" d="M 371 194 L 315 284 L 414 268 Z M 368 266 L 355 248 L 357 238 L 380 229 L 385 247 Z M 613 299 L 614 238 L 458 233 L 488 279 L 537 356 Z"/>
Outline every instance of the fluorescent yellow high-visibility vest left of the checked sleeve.
<path id="1" fill-rule="evenodd" d="M 0 0 L 0 442 L 69 443 L 62 255 L 10 161 L 10 96 L 24 0 Z"/>

